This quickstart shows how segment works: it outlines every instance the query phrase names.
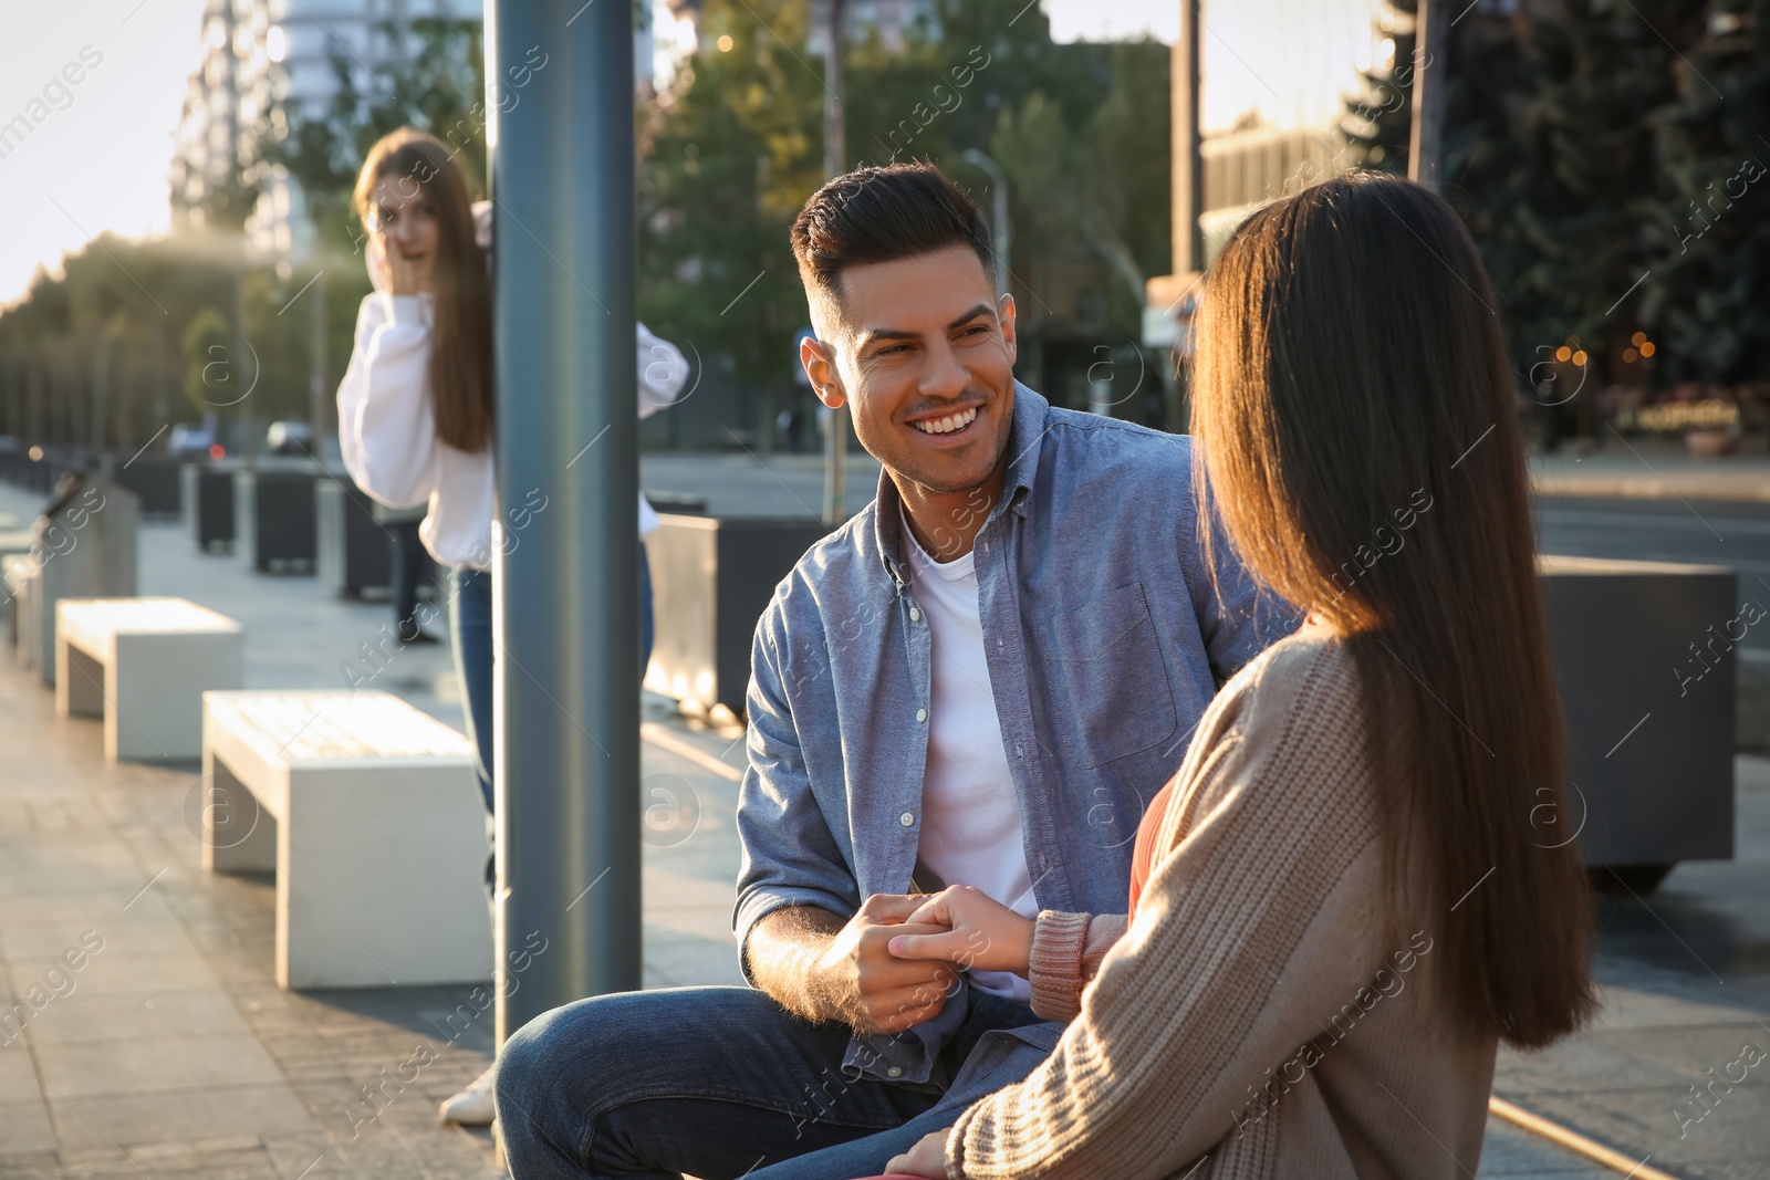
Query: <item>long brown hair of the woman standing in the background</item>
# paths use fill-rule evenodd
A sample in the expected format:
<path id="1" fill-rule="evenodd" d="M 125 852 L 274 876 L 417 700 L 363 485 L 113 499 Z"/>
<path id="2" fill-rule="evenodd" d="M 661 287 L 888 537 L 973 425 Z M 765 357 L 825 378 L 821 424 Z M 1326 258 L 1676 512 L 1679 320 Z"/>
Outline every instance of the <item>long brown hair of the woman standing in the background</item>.
<path id="1" fill-rule="evenodd" d="M 368 225 L 375 186 L 396 177 L 400 196 L 418 189 L 437 219 L 435 311 L 430 334 L 430 405 L 437 437 L 457 451 L 478 453 L 492 442 L 492 283 L 485 251 L 473 237 L 467 179 L 448 147 L 432 134 L 400 127 L 368 149 L 356 177 L 356 214 Z"/>

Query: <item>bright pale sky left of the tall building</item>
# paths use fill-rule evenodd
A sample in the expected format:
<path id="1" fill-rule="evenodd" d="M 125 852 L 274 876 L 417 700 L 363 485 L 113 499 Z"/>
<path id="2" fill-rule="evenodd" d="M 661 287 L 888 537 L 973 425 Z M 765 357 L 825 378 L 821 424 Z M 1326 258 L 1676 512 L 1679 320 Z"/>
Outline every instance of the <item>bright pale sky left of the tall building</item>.
<path id="1" fill-rule="evenodd" d="M 78 251 L 104 230 L 165 232 L 172 133 L 184 81 L 202 55 L 204 5 L 0 2 L 0 126 L 48 111 L 21 143 L 0 143 L 7 152 L 0 159 L 0 303 L 11 303 L 39 264 L 55 269 L 64 251 Z M 78 85 L 62 74 L 69 62 Z"/>

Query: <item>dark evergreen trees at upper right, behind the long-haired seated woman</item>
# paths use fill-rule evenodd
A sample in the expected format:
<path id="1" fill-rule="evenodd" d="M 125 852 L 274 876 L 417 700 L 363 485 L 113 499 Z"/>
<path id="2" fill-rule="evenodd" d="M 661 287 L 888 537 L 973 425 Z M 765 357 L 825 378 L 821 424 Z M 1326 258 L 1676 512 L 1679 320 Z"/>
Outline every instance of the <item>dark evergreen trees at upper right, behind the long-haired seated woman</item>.
<path id="1" fill-rule="evenodd" d="M 1664 326 L 1669 350 L 1708 372 L 1736 370 L 1761 347 L 1752 343 L 1763 338 L 1754 317 L 1765 292 L 1752 280 L 1763 274 L 1765 248 L 1752 237 L 1761 218 L 1729 218 L 1689 257 L 1678 239 L 1689 221 L 1680 211 L 1735 173 L 1749 129 L 1770 113 L 1765 21 L 1705 35 L 1712 14 L 1740 2 L 1478 9 L 1451 30 L 1443 67 L 1427 65 L 1444 87 L 1444 195 L 1494 278 L 1520 380 L 1568 340 L 1602 380 L 1641 322 Z M 1398 0 L 1397 12 L 1409 7 Z M 1405 50 L 1397 37 L 1398 65 Z M 1701 81 L 1703 62 L 1733 83 L 1724 87 L 1733 101 Z M 1395 78 L 1374 80 L 1374 96 L 1404 90 Z M 1349 119 L 1354 157 L 1400 170 L 1409 126 L 1400 103 L 1377 120 Z"/>

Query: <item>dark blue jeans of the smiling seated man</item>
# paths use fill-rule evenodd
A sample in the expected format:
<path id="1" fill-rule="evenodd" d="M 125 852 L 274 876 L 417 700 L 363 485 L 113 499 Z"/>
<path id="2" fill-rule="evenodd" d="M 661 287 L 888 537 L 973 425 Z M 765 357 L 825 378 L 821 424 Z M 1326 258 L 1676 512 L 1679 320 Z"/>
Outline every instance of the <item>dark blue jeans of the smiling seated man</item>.
<path id="1" fill-rule="evenodd" d="M 993 1030 L 1030 1008 L 970 994 L 943 1049 L 952 1093 Z M 747 987 L 616 992 L 554 1008 L 497 1058 L 497 1118 L 517 1180 L 843 1180 L 874 1175 L 965 1102 L 843 1072 L 850 1030 L 812 1024 Z M 1028 1063 L 1030 1067 L 1030 1063 Z M 1005 1084 L 1012 1079 L 1000 1079 Z"/>

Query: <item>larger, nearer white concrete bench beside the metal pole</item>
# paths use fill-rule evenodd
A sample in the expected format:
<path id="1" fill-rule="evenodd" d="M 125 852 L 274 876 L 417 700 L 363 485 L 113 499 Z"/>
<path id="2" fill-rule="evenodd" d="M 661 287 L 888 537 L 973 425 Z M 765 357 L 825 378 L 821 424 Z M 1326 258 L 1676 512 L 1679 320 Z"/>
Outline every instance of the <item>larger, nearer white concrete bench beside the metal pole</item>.
<path id="1" fill-rule="evenodd" d="M 467 738 L 386 692 L 207 692 L 204 775 L 204 865 L 276 872 L 278 985 L 490 977 Z"/>

